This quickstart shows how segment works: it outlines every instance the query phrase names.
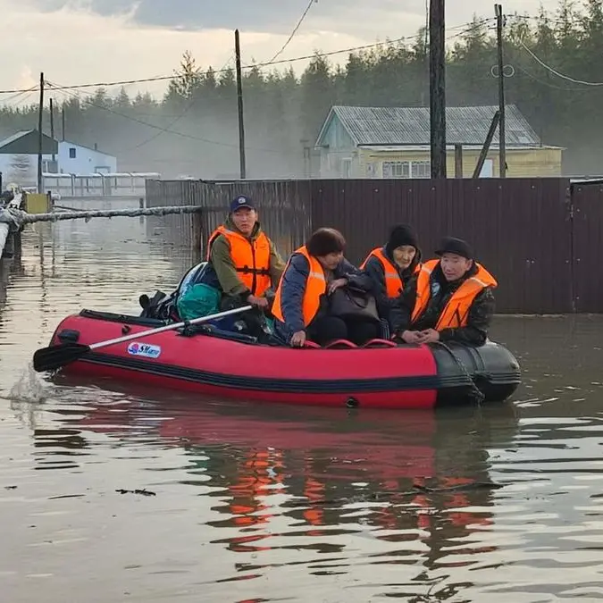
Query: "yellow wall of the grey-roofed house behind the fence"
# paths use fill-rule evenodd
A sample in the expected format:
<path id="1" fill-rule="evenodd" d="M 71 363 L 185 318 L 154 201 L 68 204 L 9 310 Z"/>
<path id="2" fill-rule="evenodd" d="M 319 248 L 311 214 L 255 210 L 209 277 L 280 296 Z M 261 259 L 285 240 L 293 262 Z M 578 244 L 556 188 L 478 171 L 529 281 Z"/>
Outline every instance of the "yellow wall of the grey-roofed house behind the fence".
<path id="1" fill-rule="evenodd" d="M 368 163 L 376 163 L 375 174 L 373 178 L 382 178 L 382 162 L 389 161 L 429 161 L 429 151 L 387 151 L 379 152 L 368 149 L 358 149 L 358 167 L 364 177 L 366 177 L 366 167 Z M 507 149 L 507 176 L 509 178 L 537 178 L 547 176 L 561 176 L 561 155 L 563 149 L 560 148 L 534 148 L 525 150 Z M 477 149 L 463 149 L 463 177 L 471 178 L 473 170 L 477 164 L 480 151 Z M 492 160 L 492 170 L 494 178 L 499 177 L 498 170 L 498 149 L 490 151 L 486 157 Z M 455 175 L 455 155 L 453 151 L 447 154 L 447 172 L 448 178 Z"/>

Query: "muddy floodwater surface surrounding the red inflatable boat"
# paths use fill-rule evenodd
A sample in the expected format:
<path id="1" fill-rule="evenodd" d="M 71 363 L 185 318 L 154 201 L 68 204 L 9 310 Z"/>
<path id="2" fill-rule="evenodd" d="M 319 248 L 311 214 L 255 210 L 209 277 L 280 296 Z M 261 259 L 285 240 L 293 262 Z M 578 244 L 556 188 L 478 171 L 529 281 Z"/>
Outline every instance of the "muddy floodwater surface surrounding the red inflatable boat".
<path id="1" fill-rule="evenodd" d="M 0 283 L 0 591 L 11 603 L 603 599 L 597 317 L 497 317 L 523 385 L 438 412 L 42 379 L 83 307 L 137 313 L 161 222 L 38 224 Z"/>

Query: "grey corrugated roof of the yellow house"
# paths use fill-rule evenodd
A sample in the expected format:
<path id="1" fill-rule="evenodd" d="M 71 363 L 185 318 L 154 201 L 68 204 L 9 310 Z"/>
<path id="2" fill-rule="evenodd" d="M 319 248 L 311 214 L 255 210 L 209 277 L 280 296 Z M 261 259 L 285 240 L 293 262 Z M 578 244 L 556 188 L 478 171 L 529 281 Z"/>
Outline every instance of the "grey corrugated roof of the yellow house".
<path id="1" fill-rule="evenodd" d="M 447 143 L 482 145 L 498 106 L 447 107 Z M 356 145 L 428 145 L 430 110 L 428 107 L 353 107 L 333 106 L 316 146 L 336 116 Z M 540 146 L 540 138 L 515 105 L 507 105 L 507 145 Z M 498 145 L 498 129 L 492 144 Z"/>

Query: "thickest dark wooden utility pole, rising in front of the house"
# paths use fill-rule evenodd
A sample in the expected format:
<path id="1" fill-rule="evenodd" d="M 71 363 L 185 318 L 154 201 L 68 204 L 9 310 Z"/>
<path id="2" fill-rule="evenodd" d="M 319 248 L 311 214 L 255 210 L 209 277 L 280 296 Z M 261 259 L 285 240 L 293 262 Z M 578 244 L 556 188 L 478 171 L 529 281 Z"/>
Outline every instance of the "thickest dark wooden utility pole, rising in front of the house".
<path id="1" fill-rule="evenodd" d="M 431 178 L 446 178 L 446 46 L 444 0 L 430 0 L 429 96 Z"/>

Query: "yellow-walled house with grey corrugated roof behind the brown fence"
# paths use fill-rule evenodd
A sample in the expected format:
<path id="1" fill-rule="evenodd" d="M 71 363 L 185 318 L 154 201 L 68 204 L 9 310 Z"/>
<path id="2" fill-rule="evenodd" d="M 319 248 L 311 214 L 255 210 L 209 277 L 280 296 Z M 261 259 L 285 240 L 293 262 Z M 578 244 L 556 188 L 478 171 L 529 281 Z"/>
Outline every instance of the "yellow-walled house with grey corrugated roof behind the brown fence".
<path id="1" fill-rule="evenodd" d="M 456 146 L 471 177 L 498 106 L 447 107 L 448 175 Z M 506 107 L 507 177 L 560 176 L 562 147 L 545 146 L 515 105 Z M 428 107 L 333 106 L 314 147 L 321 178 L 430 178 Z M 482 167 L 498 177 L 498 131 Z"/>

